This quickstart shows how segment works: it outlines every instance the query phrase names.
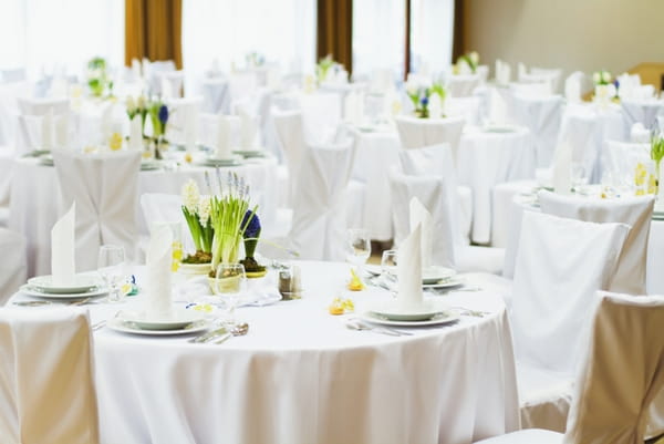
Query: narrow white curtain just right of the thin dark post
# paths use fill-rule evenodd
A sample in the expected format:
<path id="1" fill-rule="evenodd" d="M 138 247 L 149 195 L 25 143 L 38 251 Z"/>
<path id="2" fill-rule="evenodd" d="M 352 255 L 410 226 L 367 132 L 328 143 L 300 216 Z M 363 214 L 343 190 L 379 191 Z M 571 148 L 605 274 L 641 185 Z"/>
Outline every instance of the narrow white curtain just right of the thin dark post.
<path id="1" fill-rule="evenodd" d="M 411 69 L 446 72 L 452 60 L 454 0 L 413 0 L 411 4 Z"/>

